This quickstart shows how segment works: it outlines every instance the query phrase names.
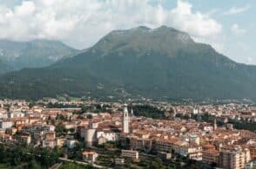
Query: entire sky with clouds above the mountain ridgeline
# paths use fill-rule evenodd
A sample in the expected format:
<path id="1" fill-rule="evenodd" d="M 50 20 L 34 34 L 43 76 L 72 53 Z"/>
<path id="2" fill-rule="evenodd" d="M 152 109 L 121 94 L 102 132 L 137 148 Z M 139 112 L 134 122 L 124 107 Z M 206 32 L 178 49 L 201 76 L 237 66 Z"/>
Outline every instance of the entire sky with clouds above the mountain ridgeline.
<path id="1" fill-rule="evenodd" d="M 0 0 L 0 39 L 86 49 L 113 29 L 166 25 L 256 65 L 254 17 L 255 0 Z"/>

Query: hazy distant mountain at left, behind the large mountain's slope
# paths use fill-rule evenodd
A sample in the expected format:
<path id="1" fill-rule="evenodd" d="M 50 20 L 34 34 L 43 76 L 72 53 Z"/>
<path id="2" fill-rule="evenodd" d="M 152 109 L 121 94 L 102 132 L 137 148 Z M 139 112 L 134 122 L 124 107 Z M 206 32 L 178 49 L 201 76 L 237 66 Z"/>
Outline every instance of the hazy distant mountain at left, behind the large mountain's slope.
<path id="1" fill-rule="evenodd" d="M 12 42 L 0 40 L 0 60 L 10 68 L 4 70 L 18 70 L 21 68 L 39 68 L 49 66 L 65 56 L 77 54 L 63 42 L 49 40 L 35 40 L 31 42 Z"/>

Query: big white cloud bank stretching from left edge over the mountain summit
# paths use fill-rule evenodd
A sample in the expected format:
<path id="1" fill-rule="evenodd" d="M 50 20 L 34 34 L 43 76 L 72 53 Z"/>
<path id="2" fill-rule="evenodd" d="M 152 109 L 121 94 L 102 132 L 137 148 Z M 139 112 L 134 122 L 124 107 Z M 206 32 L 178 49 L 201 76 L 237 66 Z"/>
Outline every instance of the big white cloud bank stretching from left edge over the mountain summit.
<path id="1" fill-rule="evenodd" d="M 208 14 L 192 12 L 191 3 L 177 2 L 171 10 L 161 3 L 152 6 L 149 0 L 30 0 L 11 9 L 0 4 L 0 38 L 56 39 L 85 48 L 112 29 L 139 25 L 165 24 L 209 42 L 221 33 L 221 24 Z"/>

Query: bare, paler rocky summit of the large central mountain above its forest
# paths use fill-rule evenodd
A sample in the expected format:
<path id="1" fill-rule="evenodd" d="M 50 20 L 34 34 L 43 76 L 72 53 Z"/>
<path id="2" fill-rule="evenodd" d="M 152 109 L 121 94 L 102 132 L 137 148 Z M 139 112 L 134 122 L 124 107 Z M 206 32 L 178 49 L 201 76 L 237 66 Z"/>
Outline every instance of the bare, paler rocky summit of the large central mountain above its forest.
<path id="1" fill-rule="evenodd" d="M 132 29 L 113 30 L 104 36 L 93 49 L 99 49 L 104 54 L 112 49 L 118 49 L 118 51 L 138 51 L 140 54 L 154 51 L 173 55 L 179 49 L 194 43 L 188 34 L 177 29 L 167 26 L 156 29 L 139 26 Z"/>

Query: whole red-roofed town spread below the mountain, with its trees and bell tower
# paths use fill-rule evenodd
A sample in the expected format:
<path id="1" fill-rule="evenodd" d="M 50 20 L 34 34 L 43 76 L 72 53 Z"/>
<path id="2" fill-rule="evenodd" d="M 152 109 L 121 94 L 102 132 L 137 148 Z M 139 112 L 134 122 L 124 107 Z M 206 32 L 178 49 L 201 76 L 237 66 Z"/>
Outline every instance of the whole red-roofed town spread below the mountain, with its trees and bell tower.
<path id="1" fill-rule="evenodd" d="M 51 168 L 256 166 L 256 107 L 248 104 L 2 100 L 0 118 L 0 151 L 22 145 L 40 159 L 33 150 L 54 150 Z"/>

